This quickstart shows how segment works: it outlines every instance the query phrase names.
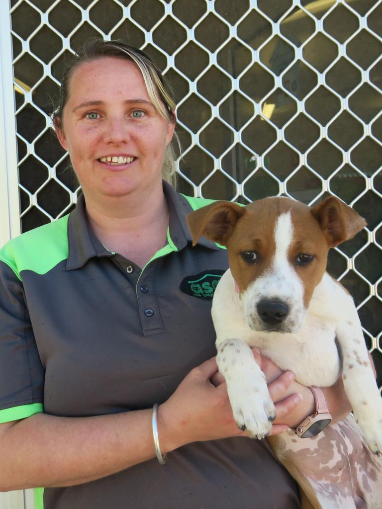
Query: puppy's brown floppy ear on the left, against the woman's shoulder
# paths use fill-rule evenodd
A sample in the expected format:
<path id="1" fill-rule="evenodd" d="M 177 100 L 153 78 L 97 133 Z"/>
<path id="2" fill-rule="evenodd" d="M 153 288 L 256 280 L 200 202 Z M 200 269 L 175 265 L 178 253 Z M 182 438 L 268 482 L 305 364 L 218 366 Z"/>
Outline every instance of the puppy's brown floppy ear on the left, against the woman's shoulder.
<path id="1" fill-rule="evenodd" d="M 232 202 L 215 202 L 190 212 L 187 224 L 193 236 L 193 246 L 204 235 L 207 239 L 226 245 L 234 226 L 244 213 L 244 207 Z"/>

